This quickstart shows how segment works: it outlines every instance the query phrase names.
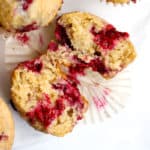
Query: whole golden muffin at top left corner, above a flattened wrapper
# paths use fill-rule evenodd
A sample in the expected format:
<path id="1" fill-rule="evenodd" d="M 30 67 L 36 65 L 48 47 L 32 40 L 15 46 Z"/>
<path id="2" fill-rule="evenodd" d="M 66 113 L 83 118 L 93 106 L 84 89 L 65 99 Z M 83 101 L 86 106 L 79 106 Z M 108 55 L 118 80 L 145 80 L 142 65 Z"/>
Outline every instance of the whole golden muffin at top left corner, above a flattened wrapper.
<path id="1" fill-rule="evenodd" d="M 61 5 L 62 0 L 0 0 L 0 24 L 20 32 L 47 26 Z"/>

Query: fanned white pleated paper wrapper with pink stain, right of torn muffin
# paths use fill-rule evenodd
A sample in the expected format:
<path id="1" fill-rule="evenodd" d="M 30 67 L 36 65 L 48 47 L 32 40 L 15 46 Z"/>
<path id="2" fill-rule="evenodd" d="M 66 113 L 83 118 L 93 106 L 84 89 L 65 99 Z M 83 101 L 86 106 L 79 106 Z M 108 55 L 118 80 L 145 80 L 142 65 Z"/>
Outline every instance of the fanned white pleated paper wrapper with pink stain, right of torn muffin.
<path id="1" fill-rule="evenodd" d="M 84 124 L 99 123 L 106 118 L 111 118 L 124 108 L 131 95 L 129 69 L 123 70 L 110 80 L 88 69 L 85 76 L 78 76 L 78 80 L 80 92 L 89 101 Z"/>

